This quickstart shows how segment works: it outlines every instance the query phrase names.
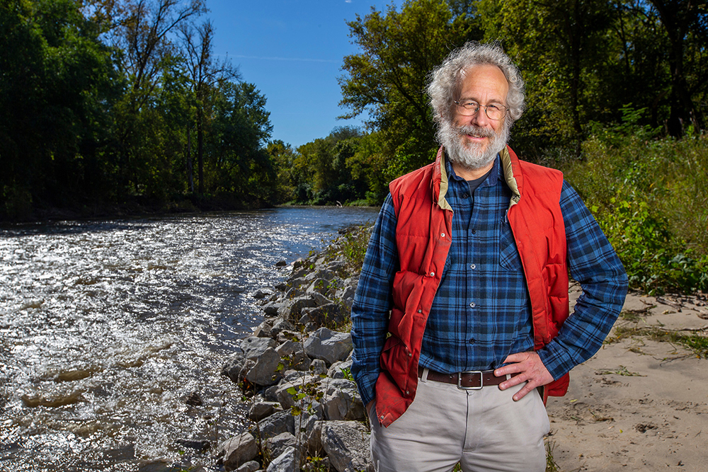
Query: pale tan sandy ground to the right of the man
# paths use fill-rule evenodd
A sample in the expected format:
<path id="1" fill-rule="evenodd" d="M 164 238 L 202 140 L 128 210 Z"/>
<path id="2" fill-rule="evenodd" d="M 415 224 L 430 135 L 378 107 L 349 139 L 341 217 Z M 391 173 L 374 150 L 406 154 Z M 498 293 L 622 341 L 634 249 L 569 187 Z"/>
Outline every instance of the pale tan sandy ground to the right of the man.
<path id="1" fill-rule="evenodd" d="M 608 340 L 618 327 L 708 335 L 704 294 L 630 294 L 623 313 Z M 644 335 L 605 343 L 573 369 L 568 394 L 549 398 L 547 410 L 562 472 L 708 471 L 708 359 L 680 345 Z"/>

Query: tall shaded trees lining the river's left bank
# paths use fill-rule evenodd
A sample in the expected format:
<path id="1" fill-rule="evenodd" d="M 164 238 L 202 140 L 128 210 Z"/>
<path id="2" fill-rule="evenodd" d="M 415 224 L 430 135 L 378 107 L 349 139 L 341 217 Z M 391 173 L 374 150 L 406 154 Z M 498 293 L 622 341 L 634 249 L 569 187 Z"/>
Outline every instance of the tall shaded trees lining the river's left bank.
<path id="1" fill-rule="evenodd" d="M 0 217 L 273 200 L 265 97 L 213 52 L 205 0 L 0 4 Z"/>

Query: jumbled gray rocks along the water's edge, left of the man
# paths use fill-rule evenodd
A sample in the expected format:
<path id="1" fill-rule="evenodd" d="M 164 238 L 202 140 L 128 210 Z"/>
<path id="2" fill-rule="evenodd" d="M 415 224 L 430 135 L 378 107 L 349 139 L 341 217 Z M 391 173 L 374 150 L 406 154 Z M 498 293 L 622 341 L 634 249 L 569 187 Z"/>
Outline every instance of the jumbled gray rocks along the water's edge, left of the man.
<path id="1" fill-rule="evenodd" d="M 250 397 L 253 425 L 219 444 L 226 471 L 373 470 L 349 373 L 358 272 L 341 249 L 333 243 L 297 260 L 286 282 L 253 294 L 265 319 L 222 369 Z"/>

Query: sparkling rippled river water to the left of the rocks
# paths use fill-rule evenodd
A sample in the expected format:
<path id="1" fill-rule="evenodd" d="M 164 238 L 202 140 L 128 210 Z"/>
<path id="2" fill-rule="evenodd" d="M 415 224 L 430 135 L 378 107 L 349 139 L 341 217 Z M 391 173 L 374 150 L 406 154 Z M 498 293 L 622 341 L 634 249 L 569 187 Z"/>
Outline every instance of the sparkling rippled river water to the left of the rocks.
<path id="1" fill-rule="evenodd" d="M 262 313 L 275 263 L 375 209 L 256 212 L 0 229 L 0 470 L 214 470 L 247 427 L 219 375 Z M 202 405 L 186 403 L 197 393 Z"/>

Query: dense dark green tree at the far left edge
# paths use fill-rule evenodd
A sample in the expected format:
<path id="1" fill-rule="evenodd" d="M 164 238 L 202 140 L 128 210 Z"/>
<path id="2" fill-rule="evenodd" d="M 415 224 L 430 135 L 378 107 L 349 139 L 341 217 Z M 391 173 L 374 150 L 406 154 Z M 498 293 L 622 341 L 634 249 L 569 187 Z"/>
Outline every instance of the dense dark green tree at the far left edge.
<path id="1" fill-rule="evenodd" d="M 74 0 L 0 5 L 0 214 L 105 188 L 100 162 L 120 88 L 113 50 Z"/>

